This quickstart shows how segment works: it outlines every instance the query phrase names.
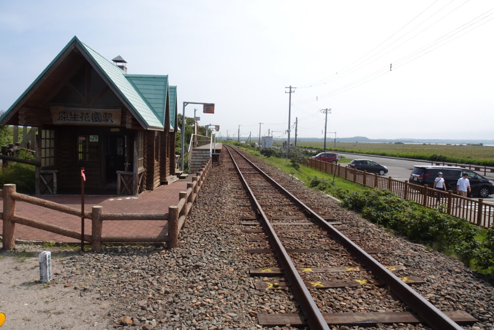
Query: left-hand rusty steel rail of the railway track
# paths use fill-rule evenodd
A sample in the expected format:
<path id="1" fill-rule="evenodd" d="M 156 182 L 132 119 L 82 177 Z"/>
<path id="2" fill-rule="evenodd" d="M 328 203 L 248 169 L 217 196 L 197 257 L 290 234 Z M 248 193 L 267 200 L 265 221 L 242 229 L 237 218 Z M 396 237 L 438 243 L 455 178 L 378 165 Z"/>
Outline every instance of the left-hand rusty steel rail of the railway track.
<path id="1" fill-rule="evenodd" d="M 249 199 L 251 200 L 252 203 L 255 204 L 255 207 L 257 208 L 257 211 L 261 216 L 260 219 L 261 224 L 264 227 L 264 231 L 266 232 L 266 235 L 269 238 L 273 250 L 275 251 L 278 262 L 280 263 L 280 266 L 284 270 L 284 274 L 287 279 L 287 282 L 290 285 L 293 295 L 298 301 L 298 305 L 300 306 L 300 309 L 304 314 L 304 317 L 306 319 L 309 328 L 314 330 L 329 330 L 328 323 L 324 319 L 323 314 L 321 313 L 316 302 L 312 298 L 309 289 L 307 288 L 304 281 L 300 277 L 300 274 L 298 273 L 295 265 L 291 261 L 291 258 L 288 255 L 287 250 L 283 246 L 273 226 L 266 217 L 266 214 L 262 210 L 261 205 L 255 198 L 254 193 L 247 184 L 247 181 L 244 175 L 242 174 L 242 172 L 240 171 L 240 168 L 238 167 L 237 163 L 235 162 L 232 153 L 230 152 L 228 147 L 226 149 L 230 154 L 233 165 L 235 166 L 235 169 L 237 170 L 237 173 L 241 178 L 242 185 L 248 191 Z"/>

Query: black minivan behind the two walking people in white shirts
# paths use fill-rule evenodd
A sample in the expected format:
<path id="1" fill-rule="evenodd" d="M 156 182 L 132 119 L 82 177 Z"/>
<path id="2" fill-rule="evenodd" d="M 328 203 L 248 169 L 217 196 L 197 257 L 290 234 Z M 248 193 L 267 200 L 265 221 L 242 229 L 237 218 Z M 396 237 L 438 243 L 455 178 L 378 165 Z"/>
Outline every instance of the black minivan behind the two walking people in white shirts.
<path id="1" fill-rule="evenodd" d="M 471 170 L 457 166 L 432 166 L 432 165 L 414 165 L 410 174 L 410 183 L 417 185 L 428 185 L 434 187 L 434 180 L 437 174 L 443 172 L 443 179 L 446 182 L 448 190 L 456 191 L 456 182 L 463 175 L 468 174 L 471 194 L 485 198 L 494 193 L 494 184 L 491 180 L 484 178 Z"/>

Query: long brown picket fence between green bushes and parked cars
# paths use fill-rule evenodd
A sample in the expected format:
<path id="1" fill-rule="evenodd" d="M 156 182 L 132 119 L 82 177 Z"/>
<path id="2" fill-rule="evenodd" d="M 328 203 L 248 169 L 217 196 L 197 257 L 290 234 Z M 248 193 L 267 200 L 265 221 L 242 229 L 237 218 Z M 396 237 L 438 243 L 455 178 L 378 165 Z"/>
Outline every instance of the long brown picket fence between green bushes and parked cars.
<path id="1" fill-rule="evenodd" d="M 445 204 L 445 213 L 456 218 L 464 218 L 480 227 L 488 228 L 494 223 L 494 203 L 484 199 L 472 199 L 453 194 L 453 191 L 440 192 L 427 185 L 414 185 L 408 181 L 400 181 L 391 177 L 382 177 L 378 174 L 359 171 L 353 168 L 332 164 L 316 159 L 306 159 L 304 164 L 326 173 L 358 183 L 369 188 L 389 189 L 391 192 L 405 199 L 412 199 L 417 204 L 436 209 L 439 204 Z M 439 202 L 437 201 L 438 195 Z"/>

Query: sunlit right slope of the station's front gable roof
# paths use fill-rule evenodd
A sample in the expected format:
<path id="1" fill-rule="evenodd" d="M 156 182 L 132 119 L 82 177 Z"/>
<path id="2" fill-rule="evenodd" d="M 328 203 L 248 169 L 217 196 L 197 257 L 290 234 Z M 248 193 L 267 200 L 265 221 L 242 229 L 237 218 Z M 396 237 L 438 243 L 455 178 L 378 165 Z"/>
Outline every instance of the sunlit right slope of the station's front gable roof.
<path id="1" fill-rule="evenodd" d="M 85 45 L 77 37 L 74 37 L 84 48 L 87 53 L 94 60 L 96 65 L 103 71 L 107 78 L 114 84 L 117 90 L 120 91 L 122 96 L 128 101 L 128 103 L 134 108 L 137 115 L 148 125 L 152 127 L 164 128 L 163 121 L 156 115 L 154 109 L 152 109 L 146 100 L 139 94 L 139 92 L 132 86 L 130 81 L 125 77 L 125 72 L 101 56 L 98 52 L 91 47 Z"/>

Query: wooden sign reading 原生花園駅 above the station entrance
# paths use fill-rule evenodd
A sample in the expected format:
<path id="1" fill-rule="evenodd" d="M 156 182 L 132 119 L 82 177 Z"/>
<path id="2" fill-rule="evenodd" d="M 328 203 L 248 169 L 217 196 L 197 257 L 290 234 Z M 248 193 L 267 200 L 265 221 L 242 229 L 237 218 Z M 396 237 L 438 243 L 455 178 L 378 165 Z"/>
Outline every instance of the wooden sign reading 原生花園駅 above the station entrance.
<path id="1" fill-rule="evenodd" d="M 120 126 L 121 109 L 85 109 L 52 106 L 51 119 L 56 125 Z"/>

